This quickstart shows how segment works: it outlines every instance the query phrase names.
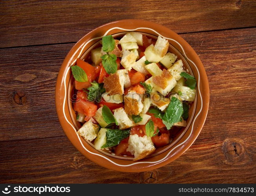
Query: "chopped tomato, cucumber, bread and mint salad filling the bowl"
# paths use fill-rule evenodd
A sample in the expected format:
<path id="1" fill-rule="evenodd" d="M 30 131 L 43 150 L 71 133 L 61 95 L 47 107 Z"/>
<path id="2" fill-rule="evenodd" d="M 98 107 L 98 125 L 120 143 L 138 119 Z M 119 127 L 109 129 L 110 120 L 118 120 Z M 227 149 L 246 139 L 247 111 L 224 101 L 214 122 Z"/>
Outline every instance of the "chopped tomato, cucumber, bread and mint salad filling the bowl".
<path id="1" fill-rule="evenodd" d="M 196 79 L 168 49 L 160 35 L 106 35 L 71 66 L 77 133 L 96 150 L 141 160 L 187 126 Z"/>

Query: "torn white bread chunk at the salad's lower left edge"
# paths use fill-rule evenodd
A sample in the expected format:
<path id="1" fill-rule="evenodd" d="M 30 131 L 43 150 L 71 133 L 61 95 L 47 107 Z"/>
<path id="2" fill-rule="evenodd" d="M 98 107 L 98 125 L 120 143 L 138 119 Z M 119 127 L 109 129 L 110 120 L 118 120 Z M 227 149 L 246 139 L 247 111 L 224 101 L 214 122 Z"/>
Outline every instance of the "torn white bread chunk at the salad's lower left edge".
<path id="1" fill-rule="evenodd" d="M 97 137 L 99 131 L 99 126 L 93 123 L 93 119 L 90 119 L 88 122 L 78 130 L 78 134 L 88 141 L 93 141 Z"/>

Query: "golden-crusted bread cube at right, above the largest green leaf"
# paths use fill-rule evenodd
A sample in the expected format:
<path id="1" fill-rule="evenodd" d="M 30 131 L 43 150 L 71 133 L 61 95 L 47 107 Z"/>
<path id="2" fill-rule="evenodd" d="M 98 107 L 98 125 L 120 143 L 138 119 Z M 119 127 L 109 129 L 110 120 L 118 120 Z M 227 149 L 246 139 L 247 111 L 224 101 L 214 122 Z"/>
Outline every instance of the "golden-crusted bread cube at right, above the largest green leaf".
<path id="1" fill-rule="evenodd" d="M 156 88 L 156 90 L 163 96 L 167 95 L 177 83 L 174 77 L 166 69 L 163 70 L 161 75 L 153 76 L 152 81 L 154 83 L 154 88 Z"/>

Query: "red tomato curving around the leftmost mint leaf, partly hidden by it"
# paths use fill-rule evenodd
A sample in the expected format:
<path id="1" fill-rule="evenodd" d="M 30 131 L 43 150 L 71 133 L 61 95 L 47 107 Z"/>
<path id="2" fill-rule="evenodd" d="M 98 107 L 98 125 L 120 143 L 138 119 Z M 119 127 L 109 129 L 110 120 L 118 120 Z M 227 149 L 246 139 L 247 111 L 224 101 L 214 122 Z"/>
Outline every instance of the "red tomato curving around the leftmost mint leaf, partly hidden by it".
<path id="1" fill-rule="evenodd" d="M 93 82 L 93 80 L 95 80 L 96 78 L 95 69 L 92 65 L 90 65 L 87 62 L 84 62 L 80 58 L 76 60 L 76 65 L 84 69 L 87 75 L 88 82 L 78 82 L 75 80 L 75 87 L 77 90 L 87 89 L 91 85 L 90 82 Z"/>

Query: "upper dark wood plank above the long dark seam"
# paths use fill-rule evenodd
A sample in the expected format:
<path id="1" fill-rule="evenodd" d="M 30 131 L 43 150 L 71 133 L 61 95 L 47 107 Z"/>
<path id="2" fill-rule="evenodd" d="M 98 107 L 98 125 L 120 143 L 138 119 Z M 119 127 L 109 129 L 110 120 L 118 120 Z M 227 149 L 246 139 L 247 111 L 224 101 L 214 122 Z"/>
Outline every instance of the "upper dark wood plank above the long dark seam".
<path id="1" fill-rule="evenodd" d="M 77 42 L 92 29 L 121 19 L 144 19 L 177 33 L 252 27 L 252 0 L 1 1 L 0 47 Z"/>

